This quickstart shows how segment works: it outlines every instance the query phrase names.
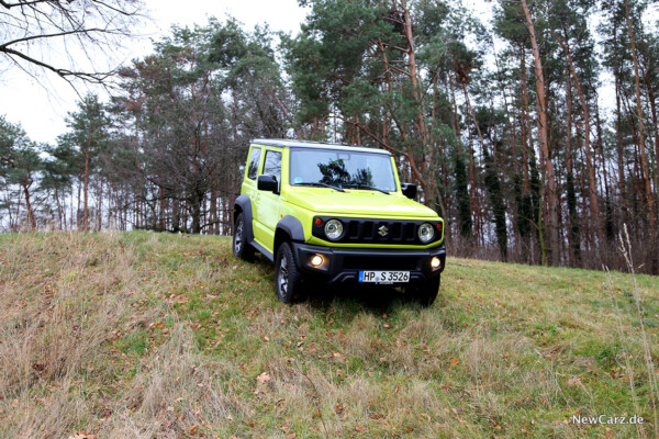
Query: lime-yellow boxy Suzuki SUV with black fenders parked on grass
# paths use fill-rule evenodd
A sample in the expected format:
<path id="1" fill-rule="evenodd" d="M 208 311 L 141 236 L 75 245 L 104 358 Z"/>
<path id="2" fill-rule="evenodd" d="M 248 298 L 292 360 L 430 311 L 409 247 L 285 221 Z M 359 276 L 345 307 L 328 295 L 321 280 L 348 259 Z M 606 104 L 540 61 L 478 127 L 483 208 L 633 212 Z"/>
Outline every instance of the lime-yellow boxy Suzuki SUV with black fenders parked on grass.
<path id="1" fill-rule="evenodd" d="M 273 261 L 284 303 L 314 282 L 350 282 L 404 286 L 427 306 L 446 261 L 444 219 L 414 198 L 384 150 L 255 139 L 234 205 L 233 251 Z"/>

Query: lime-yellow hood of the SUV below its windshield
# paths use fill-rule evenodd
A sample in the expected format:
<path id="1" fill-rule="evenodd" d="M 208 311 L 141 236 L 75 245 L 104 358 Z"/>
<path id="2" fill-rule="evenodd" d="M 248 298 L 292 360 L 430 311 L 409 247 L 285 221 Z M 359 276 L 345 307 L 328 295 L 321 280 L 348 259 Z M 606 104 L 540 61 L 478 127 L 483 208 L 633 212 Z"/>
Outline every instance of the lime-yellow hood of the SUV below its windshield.
<path id="1" fill-rule="evenodd" d="M 378 191 L 346 189 L 338 192 L 328 188 L 291 188 L 287 193 L 289 203 L 320 214 L 347 216 L 379 216 L 436 218 L 437 213 L 406 196 Z"/>

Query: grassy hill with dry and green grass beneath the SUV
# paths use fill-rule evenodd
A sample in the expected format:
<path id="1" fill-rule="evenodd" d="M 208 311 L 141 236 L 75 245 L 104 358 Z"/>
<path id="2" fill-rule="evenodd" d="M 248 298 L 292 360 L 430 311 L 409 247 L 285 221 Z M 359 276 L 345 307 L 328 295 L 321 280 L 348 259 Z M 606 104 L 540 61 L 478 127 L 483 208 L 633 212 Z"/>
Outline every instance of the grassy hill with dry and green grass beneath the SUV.
<path id="1" fill-rule="evenodd" d="M 0 437 L 657 437 L 658 325 L 645 275 L 449 258 L 427 309 L 287 306 L 227 238 L 0 235 Z"/>

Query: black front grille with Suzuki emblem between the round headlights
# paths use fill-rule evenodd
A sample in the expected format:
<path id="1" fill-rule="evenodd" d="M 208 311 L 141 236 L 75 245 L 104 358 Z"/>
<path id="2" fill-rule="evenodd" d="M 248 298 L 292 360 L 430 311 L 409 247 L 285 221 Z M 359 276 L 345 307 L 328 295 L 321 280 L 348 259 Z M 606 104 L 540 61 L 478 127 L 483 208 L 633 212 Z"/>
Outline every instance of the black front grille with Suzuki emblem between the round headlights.
<path id="1" fill-rule="evenodd" d="M 400 219 L 370 219 L 370 218 L 342 218 L 331 216 L 316 217 L 322 224 L 313 225 L 312 235 L 327 240 L 324 226 L 330 219 L 339 219 L 344 225 L 344 234 L 337 243 L 345 244 L 390 244 L 390 245 L 421 245 L 416 237 L 418 226 L 427 221 L 400 221 Z M 315 219 L 315 218 L 314 218 Z M 437 222 L 429 221 L 435 225 Z M 435 233 L 432 243 L 440 239 L 442 233 Z M 428 243 L 429 244 L 429 243 Z"/>

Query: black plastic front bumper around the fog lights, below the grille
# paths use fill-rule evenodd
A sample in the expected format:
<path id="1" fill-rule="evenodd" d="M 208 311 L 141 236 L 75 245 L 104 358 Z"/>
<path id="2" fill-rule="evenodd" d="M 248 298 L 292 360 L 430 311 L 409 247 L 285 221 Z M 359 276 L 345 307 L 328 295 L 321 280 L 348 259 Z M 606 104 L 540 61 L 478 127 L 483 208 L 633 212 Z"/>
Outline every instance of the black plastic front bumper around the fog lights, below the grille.
<path id="1" fill-rule="evenodd" d="M 444 271 L 446 248 L 427 249 L 372 249 L 372 248 L 338 248 L 312 246 L 292 243 L 298 268 L 309 274 L 325 278 L 327 283 L 358 282 L 360 270 L 395 270 L 409 271 L 410 282 L 423 282 L 435 278 Z M 323 264 L 314 268 L 311 258 L 323 256 Z M 442 263 L 433 270 L 431 260 L 438 257 Z"/>

